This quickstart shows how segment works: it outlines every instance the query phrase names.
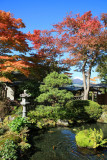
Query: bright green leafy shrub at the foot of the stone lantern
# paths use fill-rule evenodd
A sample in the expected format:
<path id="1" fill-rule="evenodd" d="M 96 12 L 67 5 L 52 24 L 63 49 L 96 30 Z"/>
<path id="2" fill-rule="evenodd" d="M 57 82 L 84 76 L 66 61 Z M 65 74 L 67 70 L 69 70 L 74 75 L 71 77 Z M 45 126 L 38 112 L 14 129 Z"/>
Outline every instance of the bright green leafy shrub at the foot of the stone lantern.
<path id="1" fill-rule="evenodd" d="M 27 123 L 27 118 L 16 117 L 12 122 L 9 123 L 9 128 L 11 131 L 19 133 Z"/>

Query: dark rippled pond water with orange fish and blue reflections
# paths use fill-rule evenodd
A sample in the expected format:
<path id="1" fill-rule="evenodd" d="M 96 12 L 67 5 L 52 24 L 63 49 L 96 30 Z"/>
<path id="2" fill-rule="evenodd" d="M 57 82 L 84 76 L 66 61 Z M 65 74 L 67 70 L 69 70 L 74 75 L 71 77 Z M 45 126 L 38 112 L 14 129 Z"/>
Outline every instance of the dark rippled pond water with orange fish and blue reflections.
<path id="1" fill-rule="evenodd" d="M 79 149 L 76 146 L 75 130 L 81 128 L 101 128 L 107 138 L 107 124 L 52 128 L 33 137 L 35 153 L 30 160 L 107 160 L 107 148 L 96 151 Z"/>

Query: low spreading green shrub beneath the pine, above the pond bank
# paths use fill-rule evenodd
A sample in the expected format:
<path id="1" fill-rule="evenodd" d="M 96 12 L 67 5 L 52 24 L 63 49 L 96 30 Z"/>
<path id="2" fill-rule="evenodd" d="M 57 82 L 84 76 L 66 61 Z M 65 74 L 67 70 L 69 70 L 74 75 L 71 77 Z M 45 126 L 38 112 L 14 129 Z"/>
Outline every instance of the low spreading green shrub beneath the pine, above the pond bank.
<path id="1" fill-rule="evenodd" d="M 34 111 L 28 113 L 28 118 L 36 127 L 55 126 L 58 119 L 65 119 L 66 111 L 59 107 L 38 106 Z"/>

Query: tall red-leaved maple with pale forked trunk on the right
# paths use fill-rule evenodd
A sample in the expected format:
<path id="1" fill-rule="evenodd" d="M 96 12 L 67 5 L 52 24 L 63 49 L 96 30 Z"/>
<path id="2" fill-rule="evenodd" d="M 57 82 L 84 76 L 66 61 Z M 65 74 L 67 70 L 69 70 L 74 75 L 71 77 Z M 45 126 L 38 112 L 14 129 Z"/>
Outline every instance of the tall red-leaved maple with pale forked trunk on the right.
<path id="1" fill-rule="evenodd" d="M 64 62 L 77 66 L 77 71 L 83 74 L 84 99 L 88 99 L 92 68 L 106 54 L 107 14 L 102 14 L 101 19 L 104 25 L 91 11 L 82 16 L 70 13 L 52 30 L 56 32 L 57 47 L 63 54 L 69 53 Z"/>

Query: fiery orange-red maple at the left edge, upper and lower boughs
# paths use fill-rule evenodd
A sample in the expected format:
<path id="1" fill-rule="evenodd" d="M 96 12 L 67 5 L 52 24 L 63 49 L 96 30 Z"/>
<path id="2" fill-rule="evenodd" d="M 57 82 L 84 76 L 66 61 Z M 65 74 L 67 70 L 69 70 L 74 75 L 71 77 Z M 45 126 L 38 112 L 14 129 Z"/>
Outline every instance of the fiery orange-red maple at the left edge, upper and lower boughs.
<path id="1" fill-rule="evenodd" d="M 26 53 L 30 48 L 26 42 L 27 35 L 19 29 L 25 28 L 22 19 L 14 18 L 10 12 L 0 10 L 0 76 L 1 81 L 9 81 L 3 77 L 6 72 L 20 70 L 28 75 L 28 63 L 18 53 L 14 55 L 14 51 Z M 14 55 L 14 56 L 13 56 Z"/>

